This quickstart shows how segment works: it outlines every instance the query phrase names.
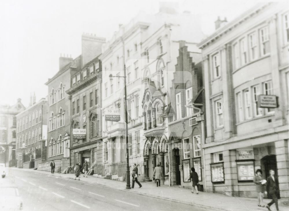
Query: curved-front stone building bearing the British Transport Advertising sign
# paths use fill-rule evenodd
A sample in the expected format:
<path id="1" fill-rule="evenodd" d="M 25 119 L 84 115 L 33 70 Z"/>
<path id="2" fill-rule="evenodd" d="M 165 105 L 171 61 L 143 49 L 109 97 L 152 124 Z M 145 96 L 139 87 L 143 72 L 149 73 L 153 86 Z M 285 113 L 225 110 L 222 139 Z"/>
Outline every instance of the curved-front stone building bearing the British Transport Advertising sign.
<path id="1" fill-rule="evenodd" d="M 207 191 L 255 197 L 255 171 L 273 169 L 289 196 L 288 14 L 282 3 L 257 4 L 198 45 Z"/>

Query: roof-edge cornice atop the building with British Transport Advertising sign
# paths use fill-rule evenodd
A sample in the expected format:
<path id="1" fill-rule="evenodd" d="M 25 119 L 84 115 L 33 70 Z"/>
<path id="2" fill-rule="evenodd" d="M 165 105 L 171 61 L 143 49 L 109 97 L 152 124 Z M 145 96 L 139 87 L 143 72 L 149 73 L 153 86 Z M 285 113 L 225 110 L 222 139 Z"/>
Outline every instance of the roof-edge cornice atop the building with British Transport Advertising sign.
<path id="1" fill-rule="evenodd" d="M 253 6 L 251 9 L 247 10 L 246 12 L 242 13 L 238 17 L 236 17 L 233 21 L 230 21 L 225 26 L 217 29 L 213 34 L 202 40 L 197 46 L 199 48 L 205 47 L 207 44 L 209 44 L 211 41 L 214 41 L 215 39 L 218 39 L 223 34 L 227 33 L 237 25 L 241 24 L 243 21 L 248 19 L 250 16 L 252 16 L 254 13 L 259 12 L 263 8 L 267 7 L 268 5 L 272 4 L 272 2 L 262 2 L 257 3 L 255 6 Z"/>

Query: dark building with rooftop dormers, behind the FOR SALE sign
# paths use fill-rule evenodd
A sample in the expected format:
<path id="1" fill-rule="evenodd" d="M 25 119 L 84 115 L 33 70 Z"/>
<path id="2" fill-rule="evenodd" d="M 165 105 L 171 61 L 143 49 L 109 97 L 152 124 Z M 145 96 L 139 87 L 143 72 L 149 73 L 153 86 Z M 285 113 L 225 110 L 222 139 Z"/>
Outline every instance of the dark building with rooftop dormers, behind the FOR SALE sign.
<path id="1" fill-rule="evenodd" d="M 98 57 L 72 75 L 71 82 L 71 88 L 66 91 L 71 100 L 71 128 L 86 129 L 86 138 L 72 138 L 70 163 L 87 161 L 90 167 L 95 166 L 97 173 L 97 166 L 102 164 L 101 61 Z"/>

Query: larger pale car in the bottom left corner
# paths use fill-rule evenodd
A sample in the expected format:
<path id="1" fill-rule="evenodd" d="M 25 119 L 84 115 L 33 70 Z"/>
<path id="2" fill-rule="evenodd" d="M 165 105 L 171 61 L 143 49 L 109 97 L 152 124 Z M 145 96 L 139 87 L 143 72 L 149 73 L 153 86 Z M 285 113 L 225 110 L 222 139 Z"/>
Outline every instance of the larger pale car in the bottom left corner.
<path id="1" fill-rule="evenodd" d="M 22 210 L 22 198 L 15 186 L 0 186 L 0 210 Z"/>

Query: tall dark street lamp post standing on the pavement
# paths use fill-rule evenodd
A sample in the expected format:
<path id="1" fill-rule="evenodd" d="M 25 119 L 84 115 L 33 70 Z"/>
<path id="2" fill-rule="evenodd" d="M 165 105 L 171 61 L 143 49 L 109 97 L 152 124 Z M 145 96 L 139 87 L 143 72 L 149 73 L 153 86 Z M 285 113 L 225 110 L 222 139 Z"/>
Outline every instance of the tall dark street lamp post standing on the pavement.
<path id="1" fill-rule="evenodd" d="M 125 109 L 125 147 L 126 147 L 126 180 L 127 180 L 127 185 L 126 189 L 130 189 L 130 174 L 129 174 L 129 149 L 128 149 L 128 128 L 127 128 L 127 84 L 126 84 L 126 68 L 125 64 L 123 66 L 124 69 L 124 75 L 125 76 L 113 76 L 112 74 L 109 75 L 110 80 L 113 79 L 113 77 L 123 77 L 124 78 L 124 84 L 125 84 L 125 97 L 124 97 L 124 109 Z"/>

